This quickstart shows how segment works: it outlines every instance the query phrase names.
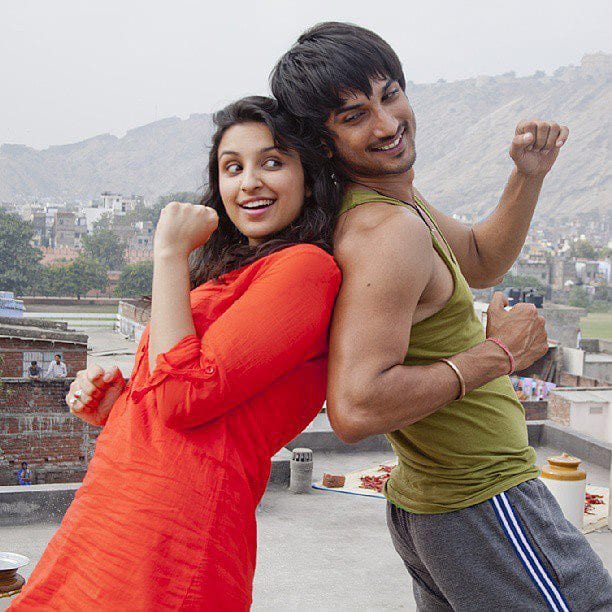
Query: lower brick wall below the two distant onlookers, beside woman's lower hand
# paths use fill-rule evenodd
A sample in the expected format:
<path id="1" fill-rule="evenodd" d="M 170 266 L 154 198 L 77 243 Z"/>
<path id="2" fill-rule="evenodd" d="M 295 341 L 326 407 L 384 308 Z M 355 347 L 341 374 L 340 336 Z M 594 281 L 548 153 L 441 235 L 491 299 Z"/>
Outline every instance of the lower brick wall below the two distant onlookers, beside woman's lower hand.
<path id="1" fill-rule="evenodd" d="M 83 479 L 101 430 L 70 414 L 71 382 L 0 380 L 0 485 L 16 484 L 22 461 L 37 484 Z"/>

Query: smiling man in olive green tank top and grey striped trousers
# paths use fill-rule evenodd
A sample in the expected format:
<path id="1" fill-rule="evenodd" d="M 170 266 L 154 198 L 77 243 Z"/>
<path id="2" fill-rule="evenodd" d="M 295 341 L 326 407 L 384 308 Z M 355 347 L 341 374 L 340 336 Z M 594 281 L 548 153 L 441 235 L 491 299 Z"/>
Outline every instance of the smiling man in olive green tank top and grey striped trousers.
<path id="1" fill-rule="evenodd" d="M 387 517 L 419 609 L 610 609 L 608 573 L 537 479 L 507 377 L 546 352 L 544 321 L 497 293 L 485 334 L 468 287 L 510 269 L 568 129 L 518 124 L 499 205 L 470 228 L 413 184 L 415 117 L 376 34 L 315 26 L 271 86 L 344 189 L 328 413 L 346 442 L 385 433 L 398 455 Z"/>

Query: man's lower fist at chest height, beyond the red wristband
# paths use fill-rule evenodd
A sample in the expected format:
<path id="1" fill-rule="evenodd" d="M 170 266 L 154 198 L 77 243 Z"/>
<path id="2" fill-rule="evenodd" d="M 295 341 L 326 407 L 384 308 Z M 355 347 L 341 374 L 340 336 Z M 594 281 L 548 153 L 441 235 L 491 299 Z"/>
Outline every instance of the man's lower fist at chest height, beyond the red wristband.
<path id="1" fill-rule="evenodd" d="M 496 291 L 487 310 L 487 338 L 498 338 L 508 347 L 519 372 L 548 351 L 545 321 L 533 304 L 517 304 L 508 311 L 506 306 L 508 300 Z"/>

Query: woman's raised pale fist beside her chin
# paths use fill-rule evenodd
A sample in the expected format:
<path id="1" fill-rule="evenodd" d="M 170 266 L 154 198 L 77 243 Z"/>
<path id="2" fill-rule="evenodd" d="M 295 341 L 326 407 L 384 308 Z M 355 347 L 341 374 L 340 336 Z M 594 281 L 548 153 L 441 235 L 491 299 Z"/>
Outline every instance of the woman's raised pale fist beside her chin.
<path id="1" fill-rule="evenodd" d="M 207 206 L 170 202 L 161 211 L 153 253 L 158 255 L 184 255 L 205 244 L 217 229 L 219 217 Z"/>

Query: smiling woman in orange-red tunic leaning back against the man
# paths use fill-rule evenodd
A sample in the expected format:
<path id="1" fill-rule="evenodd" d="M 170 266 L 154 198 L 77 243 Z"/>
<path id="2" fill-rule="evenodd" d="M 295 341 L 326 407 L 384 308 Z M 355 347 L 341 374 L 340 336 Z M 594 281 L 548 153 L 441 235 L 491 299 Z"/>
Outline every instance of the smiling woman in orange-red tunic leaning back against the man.
<path id="1" fill-rule="evenodd" d="M 274 101 L 216 123 L 205 206 L 162 211 L 132 378 L 12 610 L 250 605 L 270 458 L 324 399 L 337 194 Z M 104 421 L 92 378 L 67 399 Z"/>

